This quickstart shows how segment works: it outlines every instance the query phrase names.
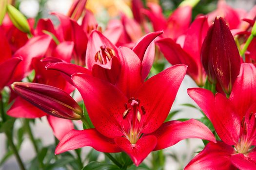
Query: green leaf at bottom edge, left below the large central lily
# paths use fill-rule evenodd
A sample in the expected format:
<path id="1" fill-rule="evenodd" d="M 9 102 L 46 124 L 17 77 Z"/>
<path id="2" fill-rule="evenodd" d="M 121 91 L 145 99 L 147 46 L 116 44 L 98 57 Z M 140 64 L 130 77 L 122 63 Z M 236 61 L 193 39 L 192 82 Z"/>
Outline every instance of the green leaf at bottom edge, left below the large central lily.
<path id="1" fill-rule="evenodd" d="M 82 170 L 120 170 L 116 165 L 106 164 L 102 162 L 90 162 L 83 167 Z"/>

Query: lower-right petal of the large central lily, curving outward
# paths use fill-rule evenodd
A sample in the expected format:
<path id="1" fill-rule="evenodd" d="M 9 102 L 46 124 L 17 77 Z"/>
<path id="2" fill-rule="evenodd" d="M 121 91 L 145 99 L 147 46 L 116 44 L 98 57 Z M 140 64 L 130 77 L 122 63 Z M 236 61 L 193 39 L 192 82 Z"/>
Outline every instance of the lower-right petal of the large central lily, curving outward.
<path id="1" fill-rule="evenodd" d="M 210 129 L 200 121 L 190 119 L 187 121 L 168 121 L 162 124 L 154 135 L 158 139 L 156 150 L 161 150 L 187 138 L 200 138 L 216 142 L 215 136 Z"/>

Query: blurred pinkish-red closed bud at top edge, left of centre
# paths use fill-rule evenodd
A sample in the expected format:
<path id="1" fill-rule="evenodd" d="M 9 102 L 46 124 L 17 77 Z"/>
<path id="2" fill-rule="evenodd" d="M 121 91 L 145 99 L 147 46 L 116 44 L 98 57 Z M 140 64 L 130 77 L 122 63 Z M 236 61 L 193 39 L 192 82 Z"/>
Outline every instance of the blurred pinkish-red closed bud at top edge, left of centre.
<path id="1" fill-rule="evenodd" d="M 77 21 L 85 12 L 86 2 L 87 0 L 74 0 L 67 13 L 67 16 Z"/>

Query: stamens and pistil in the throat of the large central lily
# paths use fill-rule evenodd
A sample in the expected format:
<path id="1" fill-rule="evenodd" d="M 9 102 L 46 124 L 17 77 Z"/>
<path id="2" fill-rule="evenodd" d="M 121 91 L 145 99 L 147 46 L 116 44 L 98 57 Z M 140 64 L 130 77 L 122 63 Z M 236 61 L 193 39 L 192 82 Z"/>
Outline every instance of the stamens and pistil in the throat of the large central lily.
<path id="1" fill-rule="evenodd" d="M 125 111 L 123 112 L 123 119 L 128 119 L 130 122 L 129 132 L 126 133 L 126 138 L 131 142 L 131 144 L 135 144 L 140 136 L 140 120 L 142 115 L 146 113 L 144 106 L 139 106 L 140 101 L 135 98 L 130 98 L 128 103 L 125 103 Z M 141 115 L 142 112 L 142 115 Z M 131 113 L 132 116 L 127 118 L 128 114 Z"/>

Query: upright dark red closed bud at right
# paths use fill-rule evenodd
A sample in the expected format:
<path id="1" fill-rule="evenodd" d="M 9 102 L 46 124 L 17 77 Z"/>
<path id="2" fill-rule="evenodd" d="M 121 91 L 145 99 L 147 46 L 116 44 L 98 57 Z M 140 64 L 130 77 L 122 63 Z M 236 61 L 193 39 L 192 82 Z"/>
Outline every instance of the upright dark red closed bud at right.
<path id="1" fill-rule="evenodd" d="M 240 55 L 228 25 L 216 17 L 202 45 L 201 61 L 210 82 L 219 83 L 230 94 L 239 74 Z"/>

